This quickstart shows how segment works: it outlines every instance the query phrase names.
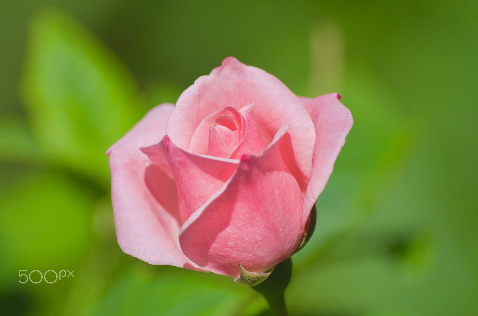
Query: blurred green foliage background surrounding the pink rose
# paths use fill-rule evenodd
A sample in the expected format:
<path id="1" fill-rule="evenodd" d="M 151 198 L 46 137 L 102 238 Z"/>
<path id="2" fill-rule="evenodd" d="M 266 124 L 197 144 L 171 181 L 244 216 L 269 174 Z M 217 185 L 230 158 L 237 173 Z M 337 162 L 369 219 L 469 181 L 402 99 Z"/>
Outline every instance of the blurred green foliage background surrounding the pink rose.
<path id="1" fill-rule="evenodd" d="M 106 149 L 230 55 L 355 121 L 290 314 L 478 315 L 478 2 L 3 0 L 0 39 L 2 315 L 269 315 L 122 253 L 112 218 Z"/>

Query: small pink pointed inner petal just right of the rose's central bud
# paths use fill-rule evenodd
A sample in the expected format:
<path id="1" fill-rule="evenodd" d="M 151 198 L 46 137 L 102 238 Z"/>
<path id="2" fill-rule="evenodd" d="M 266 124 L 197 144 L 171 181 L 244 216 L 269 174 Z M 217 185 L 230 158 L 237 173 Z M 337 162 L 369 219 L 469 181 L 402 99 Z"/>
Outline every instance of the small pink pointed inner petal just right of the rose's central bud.
<path id="1" fill-rule="evenodd" d="M 246 131 L 239 146 L 230 155 L 230 158 L 233 159 L 240 158 L 242 154 L 259 155 L 262 149 L 264 149 L 264 143 L 262 142 L 253 110 L 247 110 L 244 116 L 246 120 Z"/>

